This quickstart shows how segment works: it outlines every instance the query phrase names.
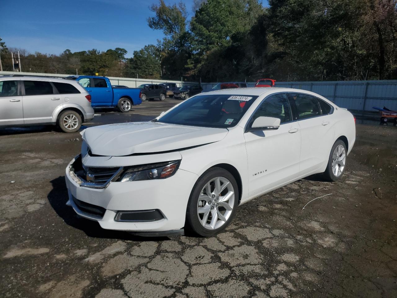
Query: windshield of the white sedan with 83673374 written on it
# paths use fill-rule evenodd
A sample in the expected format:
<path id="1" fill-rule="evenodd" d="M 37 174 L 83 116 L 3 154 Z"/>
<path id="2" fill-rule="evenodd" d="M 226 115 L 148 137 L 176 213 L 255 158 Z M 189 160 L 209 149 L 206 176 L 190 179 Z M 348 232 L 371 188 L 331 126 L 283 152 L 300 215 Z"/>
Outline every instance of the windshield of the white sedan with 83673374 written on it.
<path id="1" fill-rule="evenodd" d="M 158 122 L 229 128 L 235 126 L 258 96 L 198 95 L 179 104 Z"/>

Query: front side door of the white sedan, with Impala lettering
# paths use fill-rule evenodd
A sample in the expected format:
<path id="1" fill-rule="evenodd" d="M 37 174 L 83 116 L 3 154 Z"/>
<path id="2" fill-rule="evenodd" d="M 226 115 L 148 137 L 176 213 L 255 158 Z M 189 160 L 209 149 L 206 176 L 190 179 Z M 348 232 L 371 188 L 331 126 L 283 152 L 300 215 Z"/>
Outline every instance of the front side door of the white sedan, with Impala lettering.
<path id="1" fill-rule="evenodd" d="M 301 132 L 298 122 L 293 121 L 287 95 L 275 94 L 264 99 L 248 125 L 260 116 L 279 118 L 280 127 L 244 134 L 250 197 L 286 184 L 299 175 Z"/>

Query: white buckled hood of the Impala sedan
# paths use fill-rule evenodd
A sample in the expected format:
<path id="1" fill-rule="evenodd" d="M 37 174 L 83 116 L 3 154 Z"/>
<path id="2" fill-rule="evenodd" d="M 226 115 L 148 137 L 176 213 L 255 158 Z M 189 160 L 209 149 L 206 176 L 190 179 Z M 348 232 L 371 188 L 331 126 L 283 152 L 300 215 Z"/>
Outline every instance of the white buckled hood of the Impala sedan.
<path id="1" fill-rule="evenodd" d="M 226 128 L 133 122 L 87 128 L 83 139 L 95 155 L 125 156 L 177 151 L 213 143 L 222 140 L 227 133 Z"/>

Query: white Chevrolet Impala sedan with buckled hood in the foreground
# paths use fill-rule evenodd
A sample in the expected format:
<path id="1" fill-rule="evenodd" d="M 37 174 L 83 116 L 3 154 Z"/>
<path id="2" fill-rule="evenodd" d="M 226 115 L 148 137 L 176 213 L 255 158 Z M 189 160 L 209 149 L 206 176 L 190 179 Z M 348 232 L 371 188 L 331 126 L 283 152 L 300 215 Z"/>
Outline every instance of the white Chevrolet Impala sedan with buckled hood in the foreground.
<path id="1" fill-rule="evenodd" d="M 67 204 L 105 229 L 213 236 L 251 199 L 316 173 L 338 180 L 354 142 L 353 115 L 313 92 L 201 93 L 150 122 L 87 128 Z"/>

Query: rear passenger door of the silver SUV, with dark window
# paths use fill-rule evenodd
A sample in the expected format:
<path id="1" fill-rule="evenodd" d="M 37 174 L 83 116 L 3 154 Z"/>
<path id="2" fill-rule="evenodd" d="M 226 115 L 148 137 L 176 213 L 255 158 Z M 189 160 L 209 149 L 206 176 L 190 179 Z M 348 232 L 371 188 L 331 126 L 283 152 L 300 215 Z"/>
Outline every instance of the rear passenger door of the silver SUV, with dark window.
<path id="1" fill-rule="evenodd" d="M 60 94 L 52 83 L 33 79 L 21 82 L 24 124 L 52 122 L 54 110 L 62 106 Z"/>

